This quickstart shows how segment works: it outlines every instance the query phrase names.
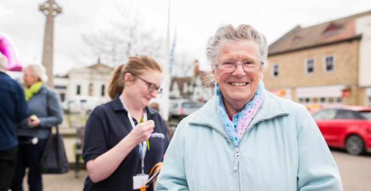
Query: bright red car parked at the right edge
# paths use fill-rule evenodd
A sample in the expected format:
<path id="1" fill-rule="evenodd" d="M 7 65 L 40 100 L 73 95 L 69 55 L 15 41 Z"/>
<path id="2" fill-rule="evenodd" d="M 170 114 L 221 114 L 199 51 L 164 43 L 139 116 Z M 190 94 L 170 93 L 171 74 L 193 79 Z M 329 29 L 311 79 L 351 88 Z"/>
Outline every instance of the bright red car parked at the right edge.
<path id="1" fill-rule="evenodd" d="M 313 118 L 328 146 L 345 148 L 355 155 L 371 149 L 371 107 L 326 108 Z"/>

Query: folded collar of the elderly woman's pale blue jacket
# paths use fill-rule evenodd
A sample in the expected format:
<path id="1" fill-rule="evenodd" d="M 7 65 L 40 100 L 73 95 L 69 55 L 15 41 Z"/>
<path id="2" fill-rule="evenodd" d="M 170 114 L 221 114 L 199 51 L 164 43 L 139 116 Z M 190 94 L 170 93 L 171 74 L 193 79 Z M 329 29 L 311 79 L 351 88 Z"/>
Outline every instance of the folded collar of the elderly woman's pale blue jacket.
<path id="1" fill-rule="evenodd" d="M 281 98 L 265 90 L 264 101 L 247 129 L 250 129 L 259 121 L 272 119 L 280 115 L 288 115 L 288 109 L 282 104 L 280 99 Z M 200 110 L 192 114 L 188 121 L 189 124 L 210 126 L 228 137 L 217 113 L 215 96 L 213 96 Z"/>

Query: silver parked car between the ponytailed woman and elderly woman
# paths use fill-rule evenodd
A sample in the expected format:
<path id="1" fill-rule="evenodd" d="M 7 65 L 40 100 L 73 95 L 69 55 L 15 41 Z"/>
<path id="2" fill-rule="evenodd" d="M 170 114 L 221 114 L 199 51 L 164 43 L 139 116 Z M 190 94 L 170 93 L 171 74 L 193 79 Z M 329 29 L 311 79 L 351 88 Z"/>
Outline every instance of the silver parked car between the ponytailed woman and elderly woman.
<path id="1" fill-rule="evenodd" d="M 201 104 L 189 99 L 171 99 L 169 119 L 182 119 L 201 108 Z"/>

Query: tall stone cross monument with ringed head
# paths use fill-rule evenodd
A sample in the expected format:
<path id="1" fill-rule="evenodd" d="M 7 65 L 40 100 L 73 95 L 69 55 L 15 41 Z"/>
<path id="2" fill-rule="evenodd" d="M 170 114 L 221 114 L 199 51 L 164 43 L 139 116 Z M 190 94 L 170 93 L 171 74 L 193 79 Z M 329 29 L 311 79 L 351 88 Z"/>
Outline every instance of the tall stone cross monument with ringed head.
<path id="1" fill-rule="evenodd" d="M 53 30 L 54 16 L 62 12 L 62 8 L 54 1 L 47 0 L 39 8 L 46 15 L 45 35 L 44 35 L 44 50 L 43 50 L 43 66 L 46 68 L 48 77 L 47 86 L 53 87 Z"/>

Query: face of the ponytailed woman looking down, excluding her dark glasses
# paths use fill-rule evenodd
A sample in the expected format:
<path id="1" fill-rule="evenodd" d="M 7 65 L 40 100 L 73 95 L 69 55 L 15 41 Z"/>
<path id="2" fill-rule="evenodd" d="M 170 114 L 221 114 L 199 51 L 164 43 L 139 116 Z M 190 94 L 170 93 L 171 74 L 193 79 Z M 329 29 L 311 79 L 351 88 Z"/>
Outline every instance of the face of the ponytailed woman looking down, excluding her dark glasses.
<path id="1" fill-rule="evenodd" d="M 127 73 L 126 75 L 130 74 Z M 132 76 L 132 78 L 135 79 L 134 81 L 125 82 L 124 91 L 127 91 L 127 93 L 131 95 L 130 97 L 132 97 L 133 102 L 139 103 L 140 107 L 144 108 L 148 105 L 151 98 L 157 96 L 157 91 L 150 92 L 148 90 L 148 83 L 160 88 L 163 76 L 159 71 L 147 70 L 138 75 L 138 77 L 141 79 L 137 78 L 136 76 Z"/>

